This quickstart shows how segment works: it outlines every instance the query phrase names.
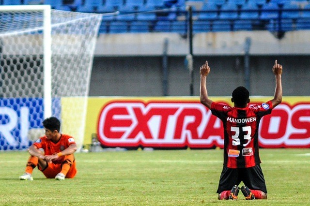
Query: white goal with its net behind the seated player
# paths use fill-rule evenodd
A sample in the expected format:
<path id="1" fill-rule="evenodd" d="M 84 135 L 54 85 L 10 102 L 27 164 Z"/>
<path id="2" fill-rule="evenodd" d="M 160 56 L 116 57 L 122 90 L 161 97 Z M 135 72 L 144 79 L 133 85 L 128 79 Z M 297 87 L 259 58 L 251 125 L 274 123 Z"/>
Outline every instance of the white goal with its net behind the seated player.
<path id="1" fill-rule="evenodd" d="M 49 5 L 0 6 L 0 150 L 28 148 L 50 116 L 81 147 L 101 19 Z"/>

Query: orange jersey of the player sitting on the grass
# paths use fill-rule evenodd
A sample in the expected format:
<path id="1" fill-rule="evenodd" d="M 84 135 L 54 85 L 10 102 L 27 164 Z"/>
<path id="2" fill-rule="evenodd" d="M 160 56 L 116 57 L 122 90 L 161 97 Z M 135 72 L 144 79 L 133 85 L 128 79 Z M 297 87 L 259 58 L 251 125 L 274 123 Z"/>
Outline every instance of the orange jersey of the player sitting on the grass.
<path id="1" fill-rule="evenodd" d="M 47 136 L 40 137 L 33 145 L 35 145 L 38 148 L 44 149 L 45 155 L 53 155 L 55 153 L 61 152 L 64 149 L 68 148 L 69 145 L 76 143 L 75 139 L 67 134 L 62 134 L 59 141 L 57 143 L 52 142 L 51 140 L 47 139 Z M 52 162 L 62 163 L 64 159 L 64 156 L 59 157 L 56 160 L 53 160 Z"/>

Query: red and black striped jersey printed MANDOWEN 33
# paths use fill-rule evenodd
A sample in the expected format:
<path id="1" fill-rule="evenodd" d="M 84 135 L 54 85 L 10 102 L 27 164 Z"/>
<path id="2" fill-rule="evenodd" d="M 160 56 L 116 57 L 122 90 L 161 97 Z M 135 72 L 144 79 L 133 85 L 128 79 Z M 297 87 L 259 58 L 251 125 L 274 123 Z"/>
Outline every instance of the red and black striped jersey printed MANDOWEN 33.
<path id="1" fill-rule="evenodd" d="M 224 165 L 244 168 L 261 163 L 258 149 L 259 123 L 271 110 L 271 101 L 244 108 L 215 102 L 211 104 L 212 114 L 223 122 Z"/>

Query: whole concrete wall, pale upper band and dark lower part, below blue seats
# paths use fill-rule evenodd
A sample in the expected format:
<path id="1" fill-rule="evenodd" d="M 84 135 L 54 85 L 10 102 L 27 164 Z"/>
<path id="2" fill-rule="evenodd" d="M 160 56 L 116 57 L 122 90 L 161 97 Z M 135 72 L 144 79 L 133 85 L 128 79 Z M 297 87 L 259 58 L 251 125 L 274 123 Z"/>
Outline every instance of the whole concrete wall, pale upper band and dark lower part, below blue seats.
<path id="1" fill-rule="evenodd" d="M 273 96 L 275 59 L 283 65 L 283 95 L 310 95 L 310 31 L 198 33 L 193 38 L 194 95 L 199 96 L 199 68 L 208 60 L 210 96 L 230 96 L 244 86 L 246 38 L 250 45 L 250 93 Z M 164 41 L 168 40 L 168 96 L 190 95 L 185 69 L 188 41 L 176 33 L 103 34 L 98 37 L 90 96 L 162 96 Z"/>

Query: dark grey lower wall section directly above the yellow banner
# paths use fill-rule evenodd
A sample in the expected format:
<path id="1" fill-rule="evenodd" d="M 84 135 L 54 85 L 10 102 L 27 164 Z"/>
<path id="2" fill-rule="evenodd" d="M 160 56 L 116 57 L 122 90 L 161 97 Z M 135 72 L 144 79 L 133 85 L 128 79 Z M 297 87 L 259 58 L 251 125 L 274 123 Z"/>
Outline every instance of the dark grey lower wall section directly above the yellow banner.
<path id="1" fill-rule="evenodd" d="M 309 56 L 251 56 L 251 95 L 273 96 L 275 59 L 283 65 L 283 95 L 310 95 Z M 190 77 L 185 57 L 168 58 L 168 96 L 189 96 Z M 230 96 L 237 86 L 244 86 L 243 56 L 194 57 L 194 95 L 199 96 L 199 68 L 208 60 L 211 73 L 207 79 L 210 96 Z M 162 96 L 161 57 L 96 57 L 90 96 Z"/>

